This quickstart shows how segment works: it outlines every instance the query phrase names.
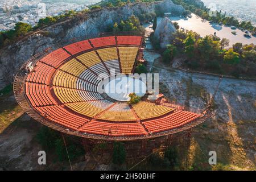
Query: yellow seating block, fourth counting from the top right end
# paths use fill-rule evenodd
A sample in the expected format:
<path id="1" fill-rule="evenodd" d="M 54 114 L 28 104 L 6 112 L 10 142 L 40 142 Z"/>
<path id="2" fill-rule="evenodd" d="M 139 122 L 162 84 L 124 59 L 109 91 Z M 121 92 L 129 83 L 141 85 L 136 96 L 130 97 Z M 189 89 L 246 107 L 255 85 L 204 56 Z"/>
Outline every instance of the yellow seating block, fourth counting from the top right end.
<path id="1" fill-rule="evenodd" d="M 79 76 L 87 68 L 81 63 L 79 63 L 79 61 L 77 61 L 76 59 L 72 59 L 65 63 L 63 66 L 61 66 L 60 69 L 72 75 Z"/>

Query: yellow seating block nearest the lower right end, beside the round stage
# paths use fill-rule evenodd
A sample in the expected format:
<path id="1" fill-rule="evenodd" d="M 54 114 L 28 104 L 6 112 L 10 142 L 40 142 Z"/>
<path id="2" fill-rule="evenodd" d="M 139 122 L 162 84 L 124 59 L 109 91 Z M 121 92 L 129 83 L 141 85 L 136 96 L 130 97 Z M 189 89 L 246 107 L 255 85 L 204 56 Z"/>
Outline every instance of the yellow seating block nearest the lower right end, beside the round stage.
<path id="1" fill-rule="evenodd" d="M 171 107 L 156 105 L 154 103 L 144 101 L 132 106 L 138 117 L 142 120 L 159 117 L 174 110 L 174 108 Z"/>

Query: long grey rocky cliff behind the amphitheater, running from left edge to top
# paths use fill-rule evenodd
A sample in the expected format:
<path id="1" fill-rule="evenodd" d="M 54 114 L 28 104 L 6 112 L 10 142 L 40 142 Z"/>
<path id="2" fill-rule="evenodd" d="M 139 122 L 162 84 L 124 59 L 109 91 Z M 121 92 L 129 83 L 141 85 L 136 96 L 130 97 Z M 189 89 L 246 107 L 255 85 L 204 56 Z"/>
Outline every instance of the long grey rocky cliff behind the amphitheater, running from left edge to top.
<path id="1" fill-rule="evenodd" d="M 80 15 L 65 22 L 57 23 L 27 36 L 19 42 L 0 49 L 0 89 L 10 84 L 16 71 L 27 59 L 47 47 L 57 48 L 59 40 L 69 40 L 84 36 L 90 38 L 106 31 L 106 27 L 131 15 L 155 12 L 155 9 L 172 14 L 182 14 L 182 6 L 175 5 L 171 0 L 154 3 L 135 3 L 119 8 L 102 9 Z"/>

